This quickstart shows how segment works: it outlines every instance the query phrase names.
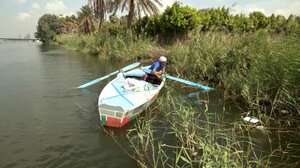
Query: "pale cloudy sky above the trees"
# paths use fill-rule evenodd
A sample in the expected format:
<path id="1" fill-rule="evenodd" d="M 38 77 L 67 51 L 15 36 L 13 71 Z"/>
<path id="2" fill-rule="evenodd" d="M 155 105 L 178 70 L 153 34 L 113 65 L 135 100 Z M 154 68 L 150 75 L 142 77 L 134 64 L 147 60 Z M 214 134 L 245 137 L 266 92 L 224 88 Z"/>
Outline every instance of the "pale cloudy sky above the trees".
<path id="1" fill-rule="evenodd" d="M 175 0 L 161 0 L 166 6 Z M 261 11 L 267 16 L 272 13 L 288 17 L 300 15 L 300 0 L 180 0 L 184 5 L 202 9 L 230 7 L 232 14 L 249 14 Z M 88 0 L 0 0 L 0 37 L 34 37 L 39 17 L 45 13 L 76 14 Z M 125 11 L 126 12 L 126 11 Z M 124 12 L 124 14 L 126 14 Z"/>

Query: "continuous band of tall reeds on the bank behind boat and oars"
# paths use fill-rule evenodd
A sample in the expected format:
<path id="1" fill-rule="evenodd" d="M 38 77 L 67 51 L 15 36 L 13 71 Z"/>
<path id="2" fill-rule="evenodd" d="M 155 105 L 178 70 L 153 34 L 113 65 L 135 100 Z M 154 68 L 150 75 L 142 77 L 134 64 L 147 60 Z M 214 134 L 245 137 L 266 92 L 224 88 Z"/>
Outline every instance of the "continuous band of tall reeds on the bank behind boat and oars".
<path id="1" fill-rule="evenodd" d="M 110 60 L 149 64 L 160 55 L 168 71 L 181 78 L 222 89 L 224 98 L 247 107 L 253 115 L 299 116 L 299 35 L 192 31 L 172 45 L 133 35 L 68 34 L 59 44 Z"/>

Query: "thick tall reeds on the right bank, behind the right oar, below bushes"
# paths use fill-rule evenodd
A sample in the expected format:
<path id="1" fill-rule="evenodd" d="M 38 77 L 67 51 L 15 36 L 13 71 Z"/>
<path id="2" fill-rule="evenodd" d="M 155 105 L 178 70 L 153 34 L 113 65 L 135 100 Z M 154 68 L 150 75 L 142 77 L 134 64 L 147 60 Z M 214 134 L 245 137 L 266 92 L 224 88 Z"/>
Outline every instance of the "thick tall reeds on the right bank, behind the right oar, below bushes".
<path id="1" fill-rule="evenodd" d="M 298 35 L 206 33 L 171 46 L 168 58 L 177 76 L 218 85 L 251 113 L 299 116 L 299 45 Z"/>

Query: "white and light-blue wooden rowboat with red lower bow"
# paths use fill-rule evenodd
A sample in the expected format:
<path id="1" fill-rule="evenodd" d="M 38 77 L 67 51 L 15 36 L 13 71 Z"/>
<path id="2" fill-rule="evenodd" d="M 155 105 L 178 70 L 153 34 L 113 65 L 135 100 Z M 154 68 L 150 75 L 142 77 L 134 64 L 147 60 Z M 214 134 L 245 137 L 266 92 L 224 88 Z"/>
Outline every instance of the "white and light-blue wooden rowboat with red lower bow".
<path id="1" fill-rule="evenodd" d="M 145 75 L 142 69 L 120 72 L 103 88 L 98 100 L 102 125 L 122 127 L 155 100 L 164 86 L 165 79 L 159 85 L 155 85 L 146 82 Z"/>

